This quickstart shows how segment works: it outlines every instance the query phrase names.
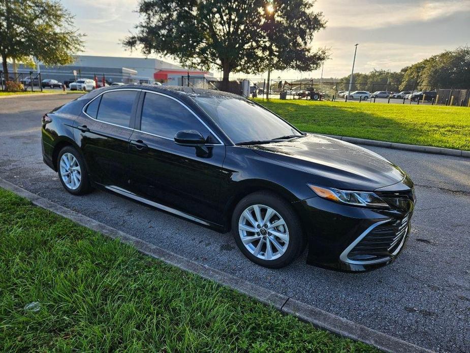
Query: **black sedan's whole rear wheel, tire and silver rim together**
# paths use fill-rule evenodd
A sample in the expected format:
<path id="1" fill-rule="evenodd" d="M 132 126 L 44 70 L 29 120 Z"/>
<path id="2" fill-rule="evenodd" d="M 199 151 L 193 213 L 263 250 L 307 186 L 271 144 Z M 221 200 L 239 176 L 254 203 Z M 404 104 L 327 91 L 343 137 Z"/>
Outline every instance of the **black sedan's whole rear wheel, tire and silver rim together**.
<path id="1" fill-rule="evenodd" d="M 91 191 L 88 173 L 80 153 L 72 146 L 60 150 L 57 158 L 57 173 L 62 186 L 74 195 Z"/>

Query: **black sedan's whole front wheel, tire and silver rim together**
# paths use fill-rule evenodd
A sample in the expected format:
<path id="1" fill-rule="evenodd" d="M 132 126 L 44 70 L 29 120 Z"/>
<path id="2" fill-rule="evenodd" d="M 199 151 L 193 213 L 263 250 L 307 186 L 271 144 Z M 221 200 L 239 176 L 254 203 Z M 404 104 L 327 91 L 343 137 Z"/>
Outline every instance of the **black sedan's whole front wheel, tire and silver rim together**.
<path id="1" fill-rule="evenodd" d="M 237 204 L 232 233 L 240 251 L 267 268 L 287 266 L 305 248 L 300 220 L 292 206 L 269 192 L 250 194 Z"/>

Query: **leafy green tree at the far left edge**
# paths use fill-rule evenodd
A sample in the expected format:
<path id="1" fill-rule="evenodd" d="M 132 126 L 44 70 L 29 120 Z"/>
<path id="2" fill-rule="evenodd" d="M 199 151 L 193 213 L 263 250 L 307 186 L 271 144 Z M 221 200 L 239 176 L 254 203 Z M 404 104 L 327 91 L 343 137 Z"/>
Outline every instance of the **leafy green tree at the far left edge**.
<path id="1" fill-rule="evenodd" d="M 33 57 L 45 65 L 66 65 L 83 46 L 71 27 L 74 16 L 58 1 L 0 0 L 0 55 L 5 79 L 7 61 L 15 59 L 34 66 Z"/>

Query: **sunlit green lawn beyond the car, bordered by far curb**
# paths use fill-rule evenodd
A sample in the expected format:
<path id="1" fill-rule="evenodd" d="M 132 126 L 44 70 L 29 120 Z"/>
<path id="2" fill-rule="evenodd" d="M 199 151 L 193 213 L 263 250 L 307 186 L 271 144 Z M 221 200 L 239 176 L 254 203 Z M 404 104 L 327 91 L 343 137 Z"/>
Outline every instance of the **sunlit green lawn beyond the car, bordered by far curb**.
<path id="1" fill-rule="evenodd" d="M 470 108 L 255 99 L 297 128 L 329 135 L 470 150 Z"/>

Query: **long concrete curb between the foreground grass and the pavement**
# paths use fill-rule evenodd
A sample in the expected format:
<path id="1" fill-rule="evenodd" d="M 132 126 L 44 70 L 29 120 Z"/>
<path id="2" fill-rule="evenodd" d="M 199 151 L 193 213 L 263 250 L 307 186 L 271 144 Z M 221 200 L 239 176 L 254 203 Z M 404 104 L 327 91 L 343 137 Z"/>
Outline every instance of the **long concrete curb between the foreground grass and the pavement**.
<path id="1" fill-rule="evenodd" d="M 302 321 L 311 323 L 319 329 L 330 331 L 342 337 L 371 344 L 386 352 L 432 352 L 431 350 L 402 341 L 382 332 L 369 329 L 348 319 L 344 319 L 340 316 L 312 307 L 285 295 L 281 295 L 280 293 L 254 285 L 235 276 L 226 274 L 225 272 L 203 266 L 193 260 L 186 259 L 158 246 L 137 239 L 130 234 L 124 233 L 75 211 L 69 210 L 55 202 L 42 198 L 39 195 L 31 193 L 1 178 L 0 187 L 30 200 L 35 205 L 43 209 L 52 211 L 55 214 L 64 216 L 82 226 L 103 233 L 107 237 L 119 239 L 122 243 L 131 244 L 146 255 L 158 258 L 184 271 L 189 271 L 206 279 L 226 285 L 260 301 L 261 303 L 271 305 L 285 314 L 294 315 Z"/>

